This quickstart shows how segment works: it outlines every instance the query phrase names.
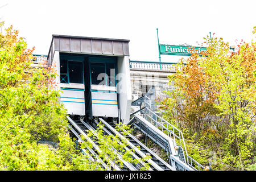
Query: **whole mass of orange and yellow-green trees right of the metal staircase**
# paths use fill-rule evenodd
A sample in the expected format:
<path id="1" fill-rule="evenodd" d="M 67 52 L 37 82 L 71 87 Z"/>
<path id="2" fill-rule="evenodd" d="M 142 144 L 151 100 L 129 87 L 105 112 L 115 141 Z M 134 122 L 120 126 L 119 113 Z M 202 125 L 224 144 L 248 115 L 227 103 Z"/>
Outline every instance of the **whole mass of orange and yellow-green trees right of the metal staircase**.
<path id="1" fill-rule="evenodd" d="M 163 115 L 183 128 L 196 160 L 214 151 L 213 168 L 243 170 L 255 156 L 256 45 L 241 42 L 232 52 L 222 39 L 205 40 L 208 51 L 169 77 L 175 92 L 160 102 Z"/>

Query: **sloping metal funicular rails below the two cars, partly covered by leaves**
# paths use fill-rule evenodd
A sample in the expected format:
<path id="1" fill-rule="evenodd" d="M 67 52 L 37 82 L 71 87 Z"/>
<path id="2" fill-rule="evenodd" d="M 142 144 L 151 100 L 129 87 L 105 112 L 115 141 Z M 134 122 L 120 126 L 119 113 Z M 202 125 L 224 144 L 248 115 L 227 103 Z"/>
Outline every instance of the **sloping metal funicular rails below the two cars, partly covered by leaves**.
<path id="1" fill-rule="evenodd" d="M 88 137 L 89 130 L 95 131 L 100 125 L 99 122 L 86 122 L 82 120 L 72 120 L 68 117 L 68 121 L 70 123 L 69 129 L 72 131 L 72 133 L 75 135 L 75 137 L 81 141 L 80 135 L 84 135 L 85 139 L 92 144 L 93 149 L 90 148 L 90 158 L 91 160 L 101 160 L 102 167 L 104 167 L 107 170 L 122 170 L 122 171 L 137 171 L 142 169 L 143 167 L 146 167 L 146 163 L 141 160 L 141 158 L 146 159 L 146 162 L 149 164 L 148 170 L 150 171 L 164 171 L 164 170 L 175 170 L 170 166 L 170 164 L 164 162 L 163 159 L 161 159 L 158 155 L 156 155 L 154 152 L 152 152 L 149 148 L 144 146 L 143 143 L 139 142 L 137 138 L 135 138 L 133 135 L 128 134 L 127 137 L 123 137 L 122 134 L 120 134 L 117 130 L 114 129 L 115 124 L 110 122 L 104 121 L 104 119 L 99 118 L 101 125 L 103 125 L 102 130 L 104 130 L 104 133 L 106 135 L 118 135 L 119 138 L 122 140 L 125 140 L 127 143 L 127 146 L 123 148 L 123 152 L 130 151 L 131 158 L 137 159 L 139 162 L 134 164 L 130 162 L 126 162 L 122 159 L 122 152 L 115 151 L 114 148 L 111 148 L 113 152 L 117 152 L 118 159 L 123 162 L 123 166 L 119 166 L 119 164 L 115 164 L 114 162 L 110 162 L 110 165 L 107 165 L 105 162 L 102 161 L 102 159 L 98 159 L 98 154 L 101 152 L 100 147 L 98 147 L 97 140 L 93 140 L 93 137 Z M 94 133 L 94 137 L 97 138 L 97 134 Z M 133 150 L 131 152 L 131 150 Z M 85 153 L 85 150 L 82 151 Z M 85 153 L 85 155 L 88 155 L 88 152 Z M 150 156 L 150 157 L 148 157 Z M 149 158 L 149 159 L 147 159 Z M 110 167 L 109 167 L 110 166 Z"/>

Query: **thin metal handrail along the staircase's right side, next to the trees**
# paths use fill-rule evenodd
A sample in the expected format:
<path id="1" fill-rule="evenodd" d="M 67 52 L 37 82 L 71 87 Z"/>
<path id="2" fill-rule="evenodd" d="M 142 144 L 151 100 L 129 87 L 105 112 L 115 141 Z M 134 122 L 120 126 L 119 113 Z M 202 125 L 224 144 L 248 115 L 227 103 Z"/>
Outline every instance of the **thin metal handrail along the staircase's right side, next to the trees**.
<path id="1" fill-rule="evenodd" d="M 200 168 L 204 169 L 204 166 L 202 166 L 199 162 L 197 162 L 195 159 L 191 158 L 191 156 L 188 155 L 183 133 L 175 126 L 171 125 L 171 123 L 167 122 L 165 119 L 163 119 L 151 110 L 152 104 L 150 98 L 144 96 L 143 102 L 145 106 L 145 108 L 142 110 L 144 118 L 146 118 L 147 121 L 151 122 L 151 124 L 156 126 L 159 130 L 162 130 L 162 132 L 165 133 L 168 137 L 174 139 L 177 147 L 184 148 L 184 160 L 189 167 L 192 167 L 196 170 L 200 170 Z M 185 156 L 187 157 L 187 159 L 185 158 Z"/>

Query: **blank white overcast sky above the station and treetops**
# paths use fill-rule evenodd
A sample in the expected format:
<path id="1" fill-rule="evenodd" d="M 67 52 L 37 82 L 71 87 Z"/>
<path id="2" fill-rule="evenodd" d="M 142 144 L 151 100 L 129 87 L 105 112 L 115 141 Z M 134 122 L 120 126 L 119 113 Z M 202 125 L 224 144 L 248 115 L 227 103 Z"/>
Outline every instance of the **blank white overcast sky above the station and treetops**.
<path id="1" fill-rule="evenodd" d="M 41 55 L 52 34 L 129 39 L 130 60 L 141 61 L 159 60 L 156 28 L 162 44 L 197 46 L 209 32 L 231 44 L 255 37 L 255 0 L 1 0 L 0 7 L 5 27 L 12 24 Z M 178 57 L 162 55 L 162 61 Z"/>

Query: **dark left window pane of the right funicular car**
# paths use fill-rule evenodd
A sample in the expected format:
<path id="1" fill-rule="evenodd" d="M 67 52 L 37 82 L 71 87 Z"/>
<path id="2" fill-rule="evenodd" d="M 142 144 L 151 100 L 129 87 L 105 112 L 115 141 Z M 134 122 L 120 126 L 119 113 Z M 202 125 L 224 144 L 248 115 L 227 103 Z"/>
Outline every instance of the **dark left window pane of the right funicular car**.
<path id="1" fill-rule="evenodd" d="M 90 77 L 92 79 L 93 85 L 98 85 L 98 84 L 105 85 L 105 82 L 102 82 L 102 81 L 105 81 L 105 64 L 90 63 Z"/>

